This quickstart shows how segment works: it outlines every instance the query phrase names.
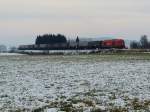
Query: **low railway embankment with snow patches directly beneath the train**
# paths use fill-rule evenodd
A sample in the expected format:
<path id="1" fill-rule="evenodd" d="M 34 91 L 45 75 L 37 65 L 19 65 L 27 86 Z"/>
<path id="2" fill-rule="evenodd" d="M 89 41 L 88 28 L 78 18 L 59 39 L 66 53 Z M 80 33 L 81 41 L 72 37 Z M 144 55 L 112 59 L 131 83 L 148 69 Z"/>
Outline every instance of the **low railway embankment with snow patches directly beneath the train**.
<path id="1" fill-rule="evenodd" d="M 27 55 L 150 55 L 150 49 L 20 50 L 17 53 Z"/>

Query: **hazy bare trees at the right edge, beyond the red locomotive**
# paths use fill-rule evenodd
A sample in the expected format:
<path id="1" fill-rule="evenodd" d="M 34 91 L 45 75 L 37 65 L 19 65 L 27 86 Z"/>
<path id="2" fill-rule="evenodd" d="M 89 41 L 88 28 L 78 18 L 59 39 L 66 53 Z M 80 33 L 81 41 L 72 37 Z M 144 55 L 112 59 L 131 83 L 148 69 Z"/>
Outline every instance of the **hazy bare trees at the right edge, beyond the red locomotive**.
<path id="1" fill-rule="evenodd" d="M 130 43 L 131 49 L 150 49 L 150 41 L 148 40 L 147 35 L 141 36 L 139 41 L 132 41 Z"/>

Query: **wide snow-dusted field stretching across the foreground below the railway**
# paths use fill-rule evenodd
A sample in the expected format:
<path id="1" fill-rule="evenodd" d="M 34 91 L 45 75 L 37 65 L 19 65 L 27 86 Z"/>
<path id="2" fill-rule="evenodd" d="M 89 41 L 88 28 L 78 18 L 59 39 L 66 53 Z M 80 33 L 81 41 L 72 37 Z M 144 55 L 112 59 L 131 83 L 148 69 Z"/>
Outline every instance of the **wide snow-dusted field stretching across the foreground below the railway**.
<path id="1" fill-rule="evenodd" d="M 0 111 L 54 108 L 50 104 L 70 100 L 77 101 L 72 104 L 76 108 L 133 110 L 134 101 L 150 101 L 150 61 L 136 56 L 0 56 Z"/>

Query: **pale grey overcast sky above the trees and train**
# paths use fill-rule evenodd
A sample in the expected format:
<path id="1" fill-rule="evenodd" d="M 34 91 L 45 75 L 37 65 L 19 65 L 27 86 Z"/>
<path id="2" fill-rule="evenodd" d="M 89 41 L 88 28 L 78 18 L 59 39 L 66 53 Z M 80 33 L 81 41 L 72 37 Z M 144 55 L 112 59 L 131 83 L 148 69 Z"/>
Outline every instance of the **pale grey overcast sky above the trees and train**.
<path id="1" fill-rule="evenodd" d="M 0 44 L 32 44 L 44 33 L 150 36 L 150 0 L 0 0 Z"/>

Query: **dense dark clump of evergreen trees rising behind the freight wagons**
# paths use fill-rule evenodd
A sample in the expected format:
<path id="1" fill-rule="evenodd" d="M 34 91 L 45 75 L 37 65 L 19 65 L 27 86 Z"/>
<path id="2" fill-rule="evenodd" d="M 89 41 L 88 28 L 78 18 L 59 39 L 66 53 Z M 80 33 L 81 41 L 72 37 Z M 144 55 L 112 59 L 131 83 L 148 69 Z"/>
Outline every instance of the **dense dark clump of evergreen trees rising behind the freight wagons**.
<path id="1" fill-rule="evenodd" d="M 62 34 L 44 34 L 39 35 L 36 38 L 35 44 L 60 44 L 60 43 L 67 43 L 67 39 Z"/>

